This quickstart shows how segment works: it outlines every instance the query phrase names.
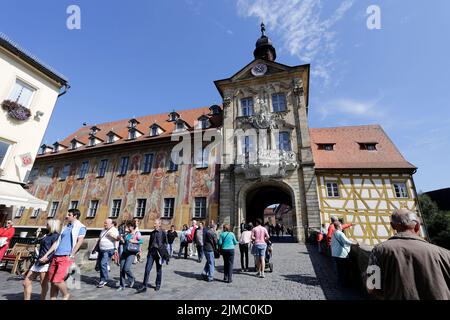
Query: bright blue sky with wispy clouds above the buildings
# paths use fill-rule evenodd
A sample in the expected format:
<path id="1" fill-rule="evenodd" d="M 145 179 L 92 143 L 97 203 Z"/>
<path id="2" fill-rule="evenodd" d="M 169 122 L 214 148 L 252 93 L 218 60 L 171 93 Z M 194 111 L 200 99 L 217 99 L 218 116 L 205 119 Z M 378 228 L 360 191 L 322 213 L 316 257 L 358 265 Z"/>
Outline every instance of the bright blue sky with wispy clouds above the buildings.
<path id="1" fill-rule="evenodd" d="M 81 30 L 66 28 L 73 4 Z M 380 30 L 366 26 L 372 4 Z M 311 63 L 310 126 L 381 124 L 429 191 L 450 185 L 449 12 L 445 0 L 3 0 L 0 31 L 70 80 L 53 143 L 83 122 L 220 103 L 213 81 L 253 59 L 264 19 L 278 62 Z"/>

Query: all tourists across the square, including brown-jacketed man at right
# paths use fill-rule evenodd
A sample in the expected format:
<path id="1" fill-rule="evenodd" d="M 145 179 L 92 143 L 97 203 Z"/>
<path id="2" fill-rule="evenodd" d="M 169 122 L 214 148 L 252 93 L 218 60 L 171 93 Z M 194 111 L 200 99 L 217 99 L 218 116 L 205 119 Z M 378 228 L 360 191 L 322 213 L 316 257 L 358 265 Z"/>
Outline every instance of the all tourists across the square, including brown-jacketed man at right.
<path id="1" fill-rule="evenodd" d="M 41 236 L 38 229 L 35 243 L 39 244 L 34 263 L 26 272 L 23 287 L 24 299 L 30 300 L 32 281 L 39 277 L 41 299 L 45 299 L 50 288 L 50 298 L 70 298 L 66 285 L 69 269 L 74 265 L 75 257 L 86 236 L 86 226 L 79 218 L 77 209 L 68 211 L 66 225 L 47 220 L 46 232 Z M 355 224 L 345 224 L 336 217 L 331 217 L 328 228 L 322 225 L 318 233 L 318 250 L 332 258 L 338 284 L 348 287 L 351 280 L 349 263 L 352 248 L 358 242 L 350 240 L 346 230 Z M 395 210 L 391 215 L 391 227 L 395 235 L 387 241 L 376 245 L 369 258 L 367 269 L 368 292 L 381 299 L 450 299 L 450 251 L 428 243 L 420 236 L 420 220 L 417 215 L 406 209 Z M 223 281 L 233 282 L 235 247 L 239 244 L 241 272 L 249 272 L 249 253 L 254 256 L 257 277 L 265 277 L 267 252 L 271 245 L 270 231 L 267 224 L 257 219 L 255 226 L 243 221 L 240 225 L 239 240 L 229 224 L 224 224 L 220 231 L 214 222 L 205 226 L 202 222 L 192 220 L 190 226 L 184 225 L 181 232 L 171 226 L 165 231 L 161 221 L 155 220 L 150 233 L 147 262 L 144 277 L 140 285 L 136 281 L 133 265 L 142 262 L 144 238 L 139 230 L 139 220 L 124 221 L 116 226 L 111 219 L 106 219 L 104 229 L 96 241 L 91 257 L 96 260 L 95 270 L 99 272 L 97 288 L 111 285 L 109 277 L 110 263 L 120 267 L 120 281 L 116 288 L 123 291 L 134 288 L 137 293 L 144 293 L 149 287 L 150 273 L 156 265 L 155 291 L 160 290 L 163 282 L 163 266 L 172 258 L 187 259 L 195 257 L 198 263 L 205 260 L 199 269 L 199 275 L 208 282 L 217 280 L 216 260 L 223 259 Z M 14 235 L 10 220 L 0 228 L 0 259 L 8 248 Z M 175 239 L 179 238 L 179 248 L 174 248 Z M 1 261 L 0 261 L 1 262 Z"/>

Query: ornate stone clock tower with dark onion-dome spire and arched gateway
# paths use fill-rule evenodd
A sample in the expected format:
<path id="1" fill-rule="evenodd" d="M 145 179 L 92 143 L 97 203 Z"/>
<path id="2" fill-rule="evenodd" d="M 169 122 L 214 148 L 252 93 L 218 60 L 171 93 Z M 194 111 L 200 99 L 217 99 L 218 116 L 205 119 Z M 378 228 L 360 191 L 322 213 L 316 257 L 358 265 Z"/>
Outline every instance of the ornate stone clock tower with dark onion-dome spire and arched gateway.
<path id="1" fill-rule="evenodd" d="M 320 228 L 308 127 L 310 66 L 275 62 L 261 24 L 255 59 L 215 85 L 223 98 L 219 223 L 282 223 L 298 241 Z"/>

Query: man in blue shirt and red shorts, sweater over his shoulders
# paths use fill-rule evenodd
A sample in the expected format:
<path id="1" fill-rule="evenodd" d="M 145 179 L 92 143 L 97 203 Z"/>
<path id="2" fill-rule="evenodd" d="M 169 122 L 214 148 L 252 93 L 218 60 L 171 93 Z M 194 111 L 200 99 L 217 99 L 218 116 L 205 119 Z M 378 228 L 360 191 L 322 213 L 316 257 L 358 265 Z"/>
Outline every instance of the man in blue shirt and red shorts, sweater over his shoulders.
<path id="1" fill-rule="evenodd" d="M 81 213 L 78 209 L 70 209 L 67 212 L 65 220 L 68 225 L 63 229 L 59 239 L 52 245 L 50 250 L 40 259 L 42 263 L 48 261 L 48 256 L 55 252 L 48 277 L 51 282 L 50 298 L 55 300 L 58 292 L 61 292 L 64 300 L 68 300 L 70 294 L 65 283 L 65 278 L 70 266 L 75 262 L 75 255 L 83 243 L 86 235 L 86 226 L 78 219 Z"/>

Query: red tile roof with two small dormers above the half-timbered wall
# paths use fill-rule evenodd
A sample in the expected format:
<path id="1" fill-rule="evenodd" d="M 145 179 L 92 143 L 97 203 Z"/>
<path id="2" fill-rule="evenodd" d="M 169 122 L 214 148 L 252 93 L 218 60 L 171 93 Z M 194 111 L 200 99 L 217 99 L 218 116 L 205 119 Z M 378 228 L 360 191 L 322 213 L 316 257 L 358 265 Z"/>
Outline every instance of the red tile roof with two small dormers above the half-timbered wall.
<path id="1" fill-rule="evenodd" d="M 310 128 L 316 169 L 416 169 L 379 125 Z M 376 143 L 376 151 L 361 150 L 360 143 Z M 318 144 L 334 144 L 333 151 Z"/>

